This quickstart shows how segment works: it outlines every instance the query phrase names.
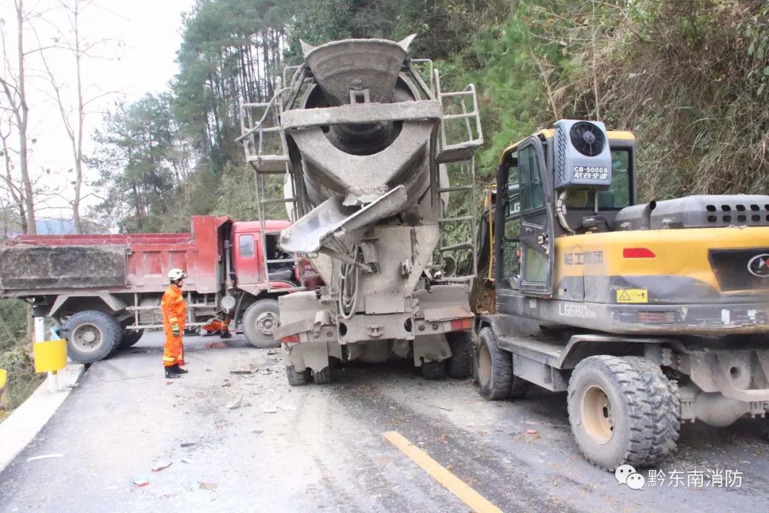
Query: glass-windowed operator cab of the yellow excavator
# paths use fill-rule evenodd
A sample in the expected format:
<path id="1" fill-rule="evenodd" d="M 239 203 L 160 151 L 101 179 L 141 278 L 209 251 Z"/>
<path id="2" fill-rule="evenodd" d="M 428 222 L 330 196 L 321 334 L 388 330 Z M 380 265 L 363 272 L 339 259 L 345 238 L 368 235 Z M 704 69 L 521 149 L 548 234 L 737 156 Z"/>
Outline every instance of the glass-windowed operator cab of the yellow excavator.
<path id="1" fill-rule="evenodd" d="M 510 145 L 499 159 L 498 185 L 487 191 L 478 237 L 479 281 L 485 278 L 487 286 L 496 282 L 503 292 L 551 298 L 554 239 L 610 231 L 617 213 L 637 202 L 631 132 L 605 132 L 611 158 L 608 185 L 605 178 L 602 183 L 577 178 L 561 183 L 559 190 L 554 165 L 557 129 L 541 130 Z M 596 167 L 584 166 L 575 173 L 590 173 L 598 181 L 601 172 Z"/>

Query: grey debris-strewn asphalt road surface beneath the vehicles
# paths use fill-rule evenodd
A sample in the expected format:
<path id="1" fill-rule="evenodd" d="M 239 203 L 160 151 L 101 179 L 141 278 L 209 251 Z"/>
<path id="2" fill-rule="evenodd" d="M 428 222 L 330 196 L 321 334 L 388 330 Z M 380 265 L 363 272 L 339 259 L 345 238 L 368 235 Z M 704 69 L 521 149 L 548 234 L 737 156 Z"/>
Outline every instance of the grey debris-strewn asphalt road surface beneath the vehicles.
<path id="1" fill-rule="evenodd" d="M 488 402 L 467 380 L 424 381 L 398 364 L 291 388 L 280 355 L 241 337 L 185 340 L 190 374 L 178 380 L 162 376 L 157 334 L 92 365 L 0 474 L 0 511 L 471 511 L 387 431 L 502 511 L 769 511 L 755 421 L 685 426 L 680 451 L 654 469 L 666 479 L 650 486 L 644 470 L 632 490 L 578 454 L 563 394 Z M 62 456 L 28 461 L 41 455 Z M 729 486 L 708 484 L 714 471 L 730 471 Z"/>

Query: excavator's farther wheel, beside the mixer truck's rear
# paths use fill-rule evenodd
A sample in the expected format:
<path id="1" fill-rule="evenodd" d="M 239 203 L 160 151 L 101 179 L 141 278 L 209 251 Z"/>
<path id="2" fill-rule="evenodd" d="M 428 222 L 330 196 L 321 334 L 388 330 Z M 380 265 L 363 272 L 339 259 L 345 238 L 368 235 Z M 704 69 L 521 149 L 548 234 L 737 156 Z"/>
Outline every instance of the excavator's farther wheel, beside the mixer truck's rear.
<path id="1" fill-rule="evenodd" d="M 501 401 L 526 396 L 530 383 L 513 375 L 512 355 L 499 348 L 491 328 L 481 329 L 476 355 L 478 387 L 484 398 Z"/>

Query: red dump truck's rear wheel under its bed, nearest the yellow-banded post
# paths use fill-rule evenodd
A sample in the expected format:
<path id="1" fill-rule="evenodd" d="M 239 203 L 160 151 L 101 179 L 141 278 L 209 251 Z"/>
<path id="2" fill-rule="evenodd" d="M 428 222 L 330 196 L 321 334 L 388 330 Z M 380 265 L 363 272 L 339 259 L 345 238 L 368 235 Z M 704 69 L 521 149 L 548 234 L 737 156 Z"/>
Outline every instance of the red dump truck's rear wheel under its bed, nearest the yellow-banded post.
<path id="1" fill-rule="evenodd" d="M 102 311 L 79 311 L 64 323 L 67 353 L 77 363 L 102 360 L 120 344 L 123 328 Z"/>

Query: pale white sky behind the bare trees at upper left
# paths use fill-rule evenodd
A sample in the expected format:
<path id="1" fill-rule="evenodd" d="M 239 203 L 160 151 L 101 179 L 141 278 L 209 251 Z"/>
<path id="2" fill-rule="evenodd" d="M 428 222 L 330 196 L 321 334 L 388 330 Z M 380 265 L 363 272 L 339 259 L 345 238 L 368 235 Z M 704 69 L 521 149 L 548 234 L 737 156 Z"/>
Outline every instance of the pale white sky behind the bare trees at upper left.
<path id="1" fill-rule="evenodd" d="M 71 1 L 71 0 L 65 0 Z M 40 12 L 57 5 L 60 0 L 25 0 L 25 9 Z M 91 135 L 102 125 L 102 112 L 116 102 L 134 102 L 146 92 L 165 90 L 168 82 L 178 72 L 176 52 L 181 44 L 181 16 L 190 12 L 195 0 L 92 0 L 92 5 L 82 15 L 80 31 L 89 42 L 100 43 L 92 58 L 83 65 L 85 97 L 95 98 L 85 120 L 88 154 L 94 149 Z M 60 10 L 46 12 L 45 19 L 32 23 L 35 32 L 25 31 L 25 47 L 30 50 L 41 45 L 51 45 L 56 32 L 68 35 L 68 23 Z M 15 57 L 15 9 L 14 0 L 0 0 L 0 20 L 4 23 L 5 46 L 8 54 Z M 61 37 L 60 35 L 58 37 Z M 67 52 L 52 49 L 46 54 L 48 63 L 58 82 L 65 86 L 65 102 L 75 105 L 74 62 Z M 12 65 L 14 63 L 12 62 Z M 68 201 L 72 187 L 68 185 L 67 171 L 72 168 L 72 149 L 66 135 L 58 104 L 52 97 L 52 88 L 43 76 L 42 62 L 33 54 L 28 58 L 30 78 L 29 117 L 30 137 L 37 142 L 32 147 L 30 168 L 36 174 L 51 170 L 46 181 L 52 188 L 62 189 L 62 196 L 51 198 L 41 208 L 38 218 L 72 218 Z M 103 96 L 102 96 L 103 95 Z M 97 177 L 95 170 L 88 170 L 87 180 Z M 87 194 L 92 189 L 86 187 Z M 82 215 L 89 205 L 98 199 L 85 199 Z"/>

